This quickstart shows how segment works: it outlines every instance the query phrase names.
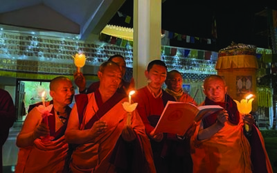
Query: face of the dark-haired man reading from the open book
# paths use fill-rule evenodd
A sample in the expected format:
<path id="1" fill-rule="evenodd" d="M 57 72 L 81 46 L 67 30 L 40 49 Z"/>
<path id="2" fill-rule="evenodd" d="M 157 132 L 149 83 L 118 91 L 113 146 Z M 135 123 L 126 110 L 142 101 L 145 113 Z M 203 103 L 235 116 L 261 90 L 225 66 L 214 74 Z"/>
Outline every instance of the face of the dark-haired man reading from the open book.
<path id="1" fill-rule="evenodd" d="M 145 71 L 145 76 L 151 89 L 160 89 L 166 80 L 166 67 L 154 64 L 150 71 Z"/>

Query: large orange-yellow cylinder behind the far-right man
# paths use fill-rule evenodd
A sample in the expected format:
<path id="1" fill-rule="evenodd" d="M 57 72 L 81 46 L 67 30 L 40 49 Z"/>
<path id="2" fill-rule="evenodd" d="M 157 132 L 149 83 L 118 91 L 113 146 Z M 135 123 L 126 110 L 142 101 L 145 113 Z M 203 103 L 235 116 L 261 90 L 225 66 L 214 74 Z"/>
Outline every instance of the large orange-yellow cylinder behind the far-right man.
<path id="1" fill-rule="evenodd" d="M 232 44 L 220 50 L 215 69 L 226 80 L 228 94 L 234 100 L 240 102 L 249 93 L 256 95 L 256 46 Z M 258 99 L 253 100 L 253 111 L 258 109 L 257 101 Z"/>

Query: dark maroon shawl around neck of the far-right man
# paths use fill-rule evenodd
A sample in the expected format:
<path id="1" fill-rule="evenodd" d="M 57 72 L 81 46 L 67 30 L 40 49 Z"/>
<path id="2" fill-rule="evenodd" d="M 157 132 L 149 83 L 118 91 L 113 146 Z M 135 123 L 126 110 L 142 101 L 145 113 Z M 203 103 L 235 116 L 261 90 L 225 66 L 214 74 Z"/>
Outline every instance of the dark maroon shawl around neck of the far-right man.
<path id="1" fill-rule="evenodd" d="M 240 112 L 238 111 L 237 104 L 235 101 L 227 95 L 226 102 L 213 102 L 213 100 L 210 100 L 206 97 L 204 101 L 204 105 L 220 105 L 221 107 L 225 107 L 225 110 L 229 114 L 229 122 L 231 122 L 234 125 L 238 125 L 238 122 L 240 121 Z M 213 113 L 210 116 L 203 119 L 203 125 L 204 129 L 207 127 L 210 127 L 217 121 L 217 113 Z"/>

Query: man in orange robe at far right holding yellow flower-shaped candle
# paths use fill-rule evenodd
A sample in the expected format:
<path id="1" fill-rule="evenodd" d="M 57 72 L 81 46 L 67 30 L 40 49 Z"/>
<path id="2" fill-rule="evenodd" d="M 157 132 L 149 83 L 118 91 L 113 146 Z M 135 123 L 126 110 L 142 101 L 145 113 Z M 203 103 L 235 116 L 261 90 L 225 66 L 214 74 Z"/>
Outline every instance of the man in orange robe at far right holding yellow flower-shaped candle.
<path id="1" fill-rule="evenodd" d="M 205 105 L 225 109 L 202 120 L 191 138 L 193 172 L 272 172 L 264 140 L 250 114 L 240 115 L 219 75 L 204 80 Z M 249 131 L 244 128 L 249 125 Z"/>

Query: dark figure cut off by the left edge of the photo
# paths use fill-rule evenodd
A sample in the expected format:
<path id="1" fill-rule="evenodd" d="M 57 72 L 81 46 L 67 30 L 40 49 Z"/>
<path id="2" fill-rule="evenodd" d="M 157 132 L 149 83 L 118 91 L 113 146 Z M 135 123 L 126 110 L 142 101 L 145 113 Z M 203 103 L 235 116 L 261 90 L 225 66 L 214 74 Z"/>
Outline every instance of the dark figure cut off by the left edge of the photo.
<path id="1" fill-rule="evenodd" d="M 15 104 L 13 104 L 12 97 L 8 91 L 3 89 L 0 89 L 0 116 L 0 172 L 2 172 L 2 148 L 8 138 L 10 127 L 12 127 L 16 119 Z"/>

